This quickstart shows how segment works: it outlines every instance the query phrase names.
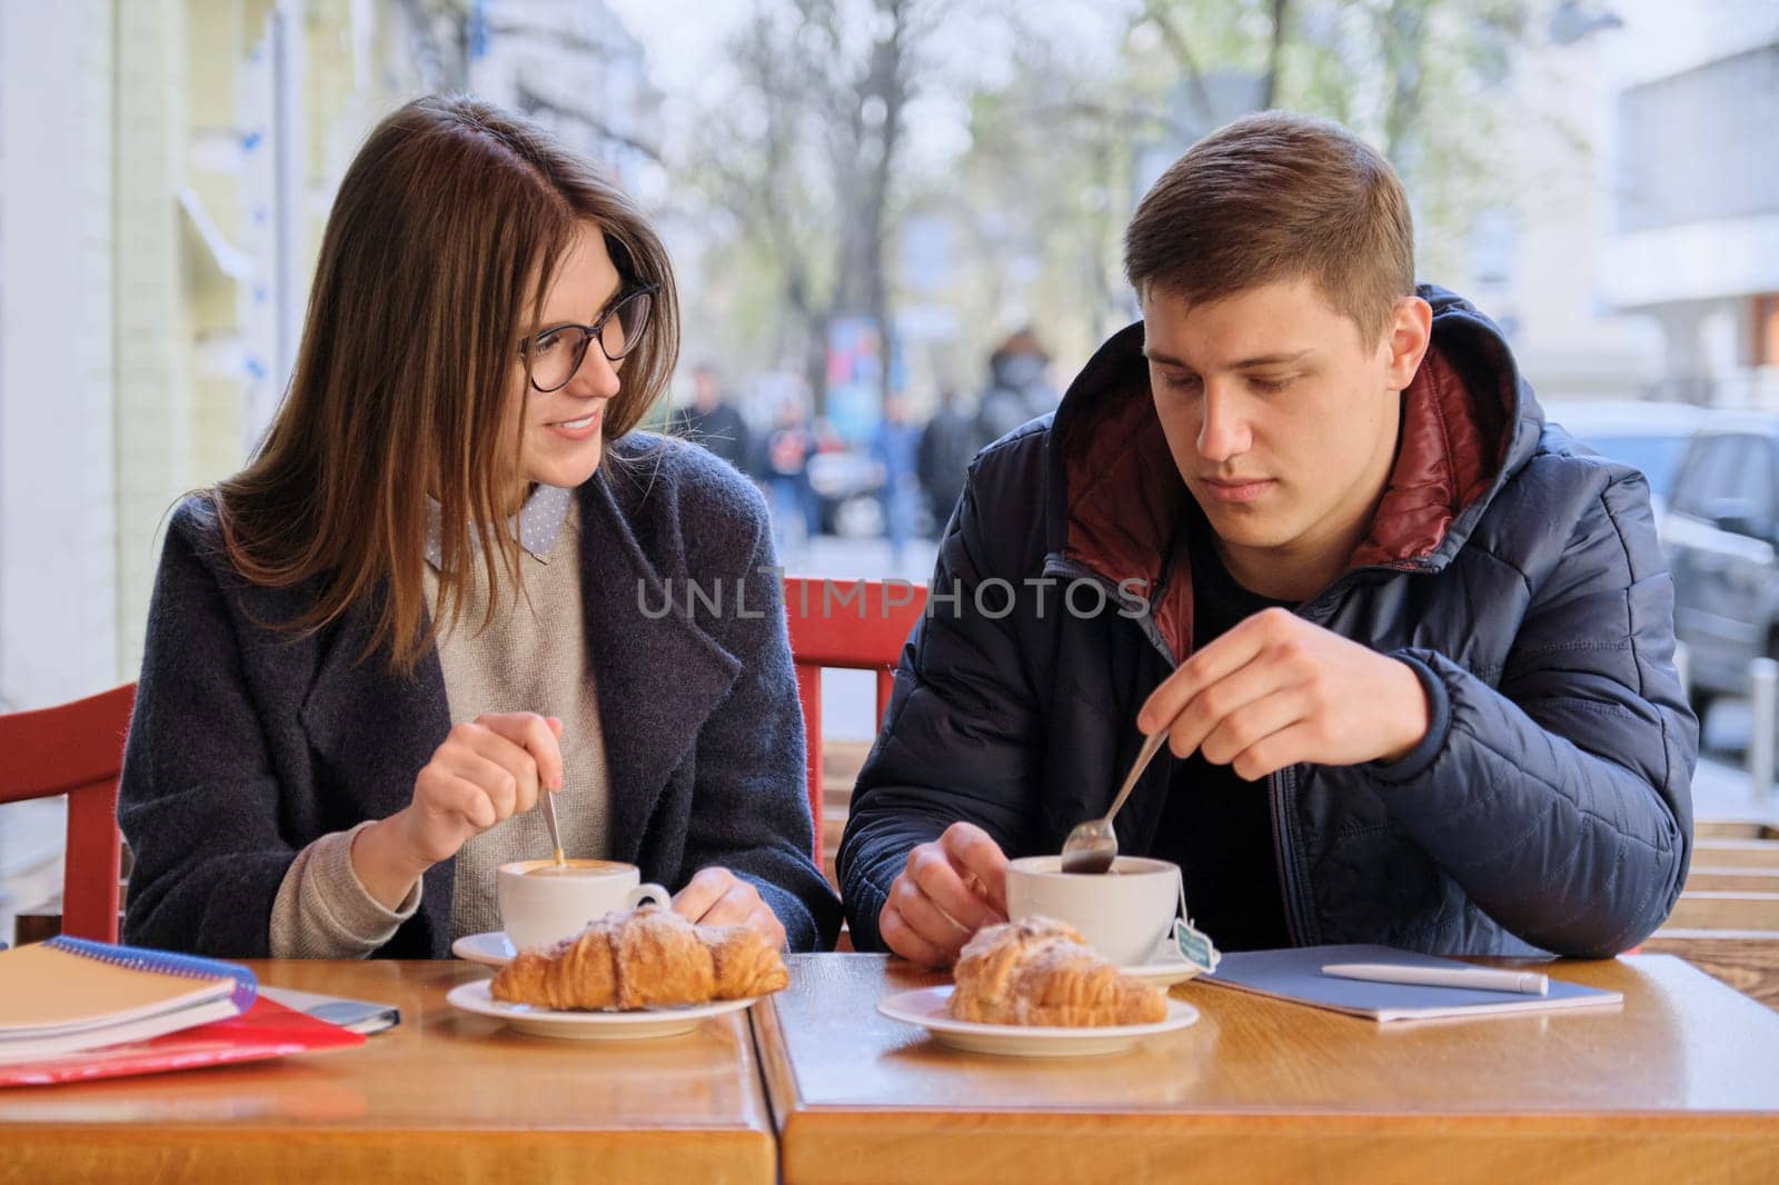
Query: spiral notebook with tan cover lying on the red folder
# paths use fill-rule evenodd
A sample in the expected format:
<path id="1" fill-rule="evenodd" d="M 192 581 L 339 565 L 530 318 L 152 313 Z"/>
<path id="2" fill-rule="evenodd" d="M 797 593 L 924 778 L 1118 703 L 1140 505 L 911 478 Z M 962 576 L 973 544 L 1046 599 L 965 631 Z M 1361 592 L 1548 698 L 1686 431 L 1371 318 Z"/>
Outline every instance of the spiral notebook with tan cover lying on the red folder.
<path id="1" fill-rule="evenodd" d="M 0 952 L 0 1066 L 144 1041 L 238 1016 L 253 971 L 80 938 Z"/>

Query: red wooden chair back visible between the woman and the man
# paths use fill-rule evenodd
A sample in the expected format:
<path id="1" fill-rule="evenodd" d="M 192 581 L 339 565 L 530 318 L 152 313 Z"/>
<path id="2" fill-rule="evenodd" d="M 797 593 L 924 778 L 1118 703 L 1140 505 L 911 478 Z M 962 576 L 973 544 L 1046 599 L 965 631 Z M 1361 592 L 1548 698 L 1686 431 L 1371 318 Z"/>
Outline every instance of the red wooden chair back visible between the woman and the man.
<path id="1" fill-rule="evenodd" d="M 815 818 L 817 865 L 822 863 L 822 669 L 875 671 L 877 721 L 882 722 L 902 644 L 925 609 L 927 587 L 920 584 L 785 578 L 790 657 L 797 664 L 797 699 L 808 735 L 804 778 Z"/>

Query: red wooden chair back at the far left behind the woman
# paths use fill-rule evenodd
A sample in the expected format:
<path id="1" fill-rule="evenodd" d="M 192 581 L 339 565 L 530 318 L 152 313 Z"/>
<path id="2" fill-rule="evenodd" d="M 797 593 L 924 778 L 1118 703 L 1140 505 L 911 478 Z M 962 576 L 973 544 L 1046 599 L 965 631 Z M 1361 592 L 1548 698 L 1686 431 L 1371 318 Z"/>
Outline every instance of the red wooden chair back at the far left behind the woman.
<path id="1" fill-rule="evenodd" d="M 68 795 L 62 932 L 117 941 L 117 774 L 135 683 L 0 715 L 0 802 Z"/>

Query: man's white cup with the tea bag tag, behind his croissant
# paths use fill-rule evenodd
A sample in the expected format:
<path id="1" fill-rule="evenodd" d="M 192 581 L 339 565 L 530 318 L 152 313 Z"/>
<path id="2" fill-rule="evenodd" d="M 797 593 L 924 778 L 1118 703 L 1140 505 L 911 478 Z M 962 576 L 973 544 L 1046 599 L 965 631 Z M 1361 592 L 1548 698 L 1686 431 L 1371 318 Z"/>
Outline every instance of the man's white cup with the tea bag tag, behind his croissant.
<path id="1" fill-rule="evenodd" d="M 1062 872 L 1060 856 L 1025 856 L 1007 865 L 1007 916 L 1055 918 L 1117 966 L 1158 957 L 1179 906 L 1179 867 L 1119 856 L 1112 872 Z"/>

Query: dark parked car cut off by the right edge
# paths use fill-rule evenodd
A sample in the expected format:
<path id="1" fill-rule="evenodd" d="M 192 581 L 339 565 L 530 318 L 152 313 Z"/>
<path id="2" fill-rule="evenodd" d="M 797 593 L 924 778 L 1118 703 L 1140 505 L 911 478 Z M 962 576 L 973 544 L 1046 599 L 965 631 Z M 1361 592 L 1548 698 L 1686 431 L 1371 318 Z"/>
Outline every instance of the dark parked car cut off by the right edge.
<path id="1" fill-rule="evenodd" d="M 1662 527 L 1694 708 L 1779 658 L 1779 415 L 1719 413 L 1681 459 Z"/>

